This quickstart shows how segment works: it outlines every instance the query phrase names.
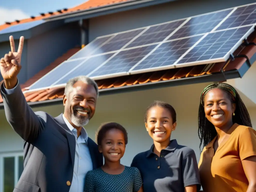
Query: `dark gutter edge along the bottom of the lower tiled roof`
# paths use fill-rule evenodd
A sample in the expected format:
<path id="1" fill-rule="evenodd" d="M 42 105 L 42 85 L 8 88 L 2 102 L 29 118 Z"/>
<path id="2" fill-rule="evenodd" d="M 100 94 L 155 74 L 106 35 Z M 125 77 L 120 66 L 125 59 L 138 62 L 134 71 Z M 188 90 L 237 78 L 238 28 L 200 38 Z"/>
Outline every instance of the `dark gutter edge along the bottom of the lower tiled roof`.
<path id="1" fill-rule="evenodd" d="M 202 76 L 196 77 L 186 77 L 180 79 L 171 79 L 165 81 L 157 81 L 157 82 L 148 82 L 142 84 L 135 84 L 130 86 L 123 86 L 123 87 L 114 87 L 114 88 L 106 88 L 100 89 L 100 96 L 102 95 L 110 95 L 116 93 L 124 93 L 124 92 L 131 92 L 131 91 L 142 91 L 142 90 L 150 90 L 156 88 L 164 88 L 164 87 L 173 87 L 173 86 L 180 86 L 180 85 L 187 85 L 187 84 L 195 84 L 195 83 L 206 83 L 206 82 L 223 82 L 227 79 L 234 79 L 234 78 L 241 78 L 243 74 L 250 68 L 248 65 L 244 65 L 239 70 L 232 70 L 226 72 L 217 72 L 212 74 L 206 74 Z M 32 108 L 42 107 L 42 106 L 50 106 L 50 105 L 58 105 L 63 102 L 62 98 L 53 99 L 53 100 L 46 100 L 46 101 L 36 101 L 36 102 L 28 102 Z M 0 109 L 4 109 L 3 103 L 0 103 Z"/>

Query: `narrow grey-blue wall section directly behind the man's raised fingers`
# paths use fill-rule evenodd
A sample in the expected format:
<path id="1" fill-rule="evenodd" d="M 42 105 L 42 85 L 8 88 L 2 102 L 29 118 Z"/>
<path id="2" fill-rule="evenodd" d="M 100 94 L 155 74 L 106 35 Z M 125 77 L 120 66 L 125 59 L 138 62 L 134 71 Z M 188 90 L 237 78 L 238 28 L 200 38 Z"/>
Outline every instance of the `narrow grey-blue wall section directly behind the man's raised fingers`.
<path id="1" fill-rule="evenodd" d="M 11 50 L 10 48 L 10 42 L 8 39 L 6 39 L 6 42 L 1 42 L 0 43 L 0 58 L 4 57 L 5 54 L 8 54 L 9 51 Z M 18 50 L 19 47 L 19 40 L 15 40 L 15 49 L 16 51 Z M 23 45 L 23 51 L 22 51 L 22 58 L 21 58 L 21 65 L 22 65 L 22 70 L 20 70 L 19 74 L 18 74 L 18 78 L 20 82 L 25 82 L 27 79 L 27 53 L 28 53 L 28 41 L 25 40 L 24 41 L 24 45 Z M 3 80 L 2 75 L 0 74 L 0 81 Z"/>

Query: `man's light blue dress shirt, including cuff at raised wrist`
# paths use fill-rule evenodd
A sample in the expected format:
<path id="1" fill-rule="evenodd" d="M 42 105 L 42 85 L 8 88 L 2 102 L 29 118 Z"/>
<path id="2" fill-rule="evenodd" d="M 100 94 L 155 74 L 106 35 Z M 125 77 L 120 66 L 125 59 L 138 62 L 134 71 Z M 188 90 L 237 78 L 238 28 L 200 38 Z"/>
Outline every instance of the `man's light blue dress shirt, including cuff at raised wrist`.
<path id="1" fill-rule="evenodd" d="M 18 85 L 18 83 L 17 83 Z M 12 94 L 17 87 L 13 89 L 6 89 L 7 94 Z M 88 171 L 92 170 L 92 159 L 90 151 L 87 145 L 88 134 L 84 128 L 81 130 L 81 135 L 77 138 L 77 130 L 68 122 L 68 120 L 62 115 L 66 125 L 76 138 L 76 152 L 74 162 L 73 179 L 70 186 L 70 192 L 83 192 L 85 176 Z"/>

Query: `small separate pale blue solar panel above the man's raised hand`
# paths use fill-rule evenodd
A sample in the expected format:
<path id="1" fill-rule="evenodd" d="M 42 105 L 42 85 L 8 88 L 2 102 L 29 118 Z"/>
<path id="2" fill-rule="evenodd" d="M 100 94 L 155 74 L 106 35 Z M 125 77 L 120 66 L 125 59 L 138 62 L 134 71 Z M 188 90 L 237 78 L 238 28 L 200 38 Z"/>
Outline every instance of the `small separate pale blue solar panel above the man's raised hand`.
<path id="1" fill-rule="evenodd" d="M 17 31 L 28 30 L 28 29 L 31 29 L 31 28 L 33 28 L 37 25 L 42 24 L 42 23 L 45 23 L 45 21 L 44 20 L 37 20 L 37 21 L 28 22 L 28 23 L 21 23 L 21 24 L 13 25 L 13 26 L 10 26 L 6 29 L 1 30 L 0 34 L 13 33 L 13 32 L 17 32 Z"/>

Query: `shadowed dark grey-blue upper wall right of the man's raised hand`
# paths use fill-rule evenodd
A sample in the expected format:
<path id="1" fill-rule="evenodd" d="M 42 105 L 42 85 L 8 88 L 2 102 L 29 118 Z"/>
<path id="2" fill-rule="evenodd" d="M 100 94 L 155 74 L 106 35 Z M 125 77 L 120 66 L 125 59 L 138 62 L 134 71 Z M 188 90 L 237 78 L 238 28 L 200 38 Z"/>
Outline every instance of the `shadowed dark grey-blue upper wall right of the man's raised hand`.
<path id="1" fill-rule="evenodd" d="M 29 39 L 27 79 L 77 45 L 80 45 L 80 28 L 76 23 L 65 24 Z"/>

